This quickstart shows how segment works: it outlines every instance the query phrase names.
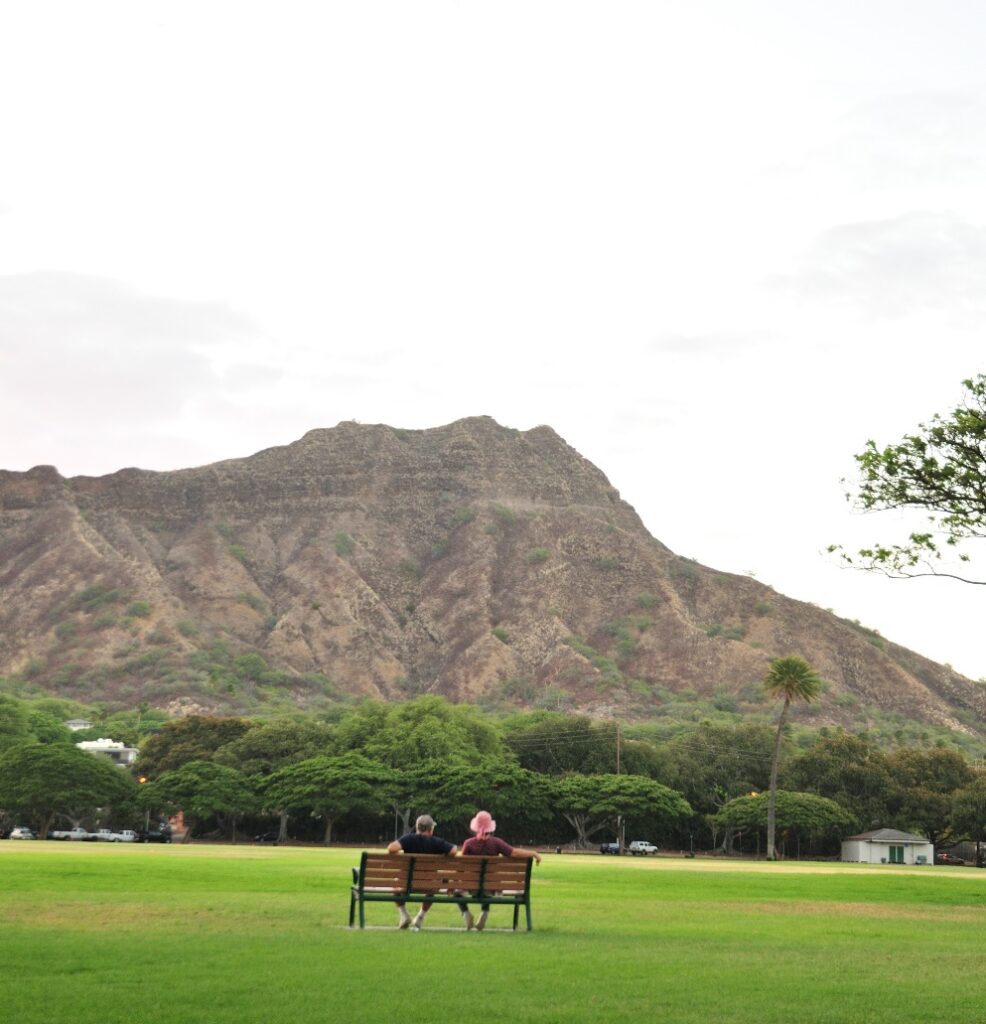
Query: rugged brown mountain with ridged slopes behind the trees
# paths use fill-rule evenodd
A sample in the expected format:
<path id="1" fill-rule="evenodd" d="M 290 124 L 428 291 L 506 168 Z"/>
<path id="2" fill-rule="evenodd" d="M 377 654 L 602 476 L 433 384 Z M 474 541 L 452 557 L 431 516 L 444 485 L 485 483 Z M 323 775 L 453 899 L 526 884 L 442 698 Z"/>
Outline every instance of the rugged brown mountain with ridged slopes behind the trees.
<path id="1" fill-rule="evenodd" d="M 196 469 L 0 472 L 0 675 L 110 707 L 340 695 L 648 717 L 799 653 L 854 709 L 980 734 L 979 685 L 682 558 L 549 427 L 341 423 Z"/>

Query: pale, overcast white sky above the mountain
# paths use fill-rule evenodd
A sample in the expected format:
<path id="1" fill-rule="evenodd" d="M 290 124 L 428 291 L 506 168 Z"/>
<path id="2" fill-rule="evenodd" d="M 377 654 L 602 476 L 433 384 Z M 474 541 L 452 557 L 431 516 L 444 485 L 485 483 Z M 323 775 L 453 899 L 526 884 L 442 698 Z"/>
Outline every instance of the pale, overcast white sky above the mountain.
<path id="1" fill-rule="evenodd" d="M 986 676 L 980 588 L 825 553 L 986 372 L 983 53 L 957 0 L 6 5 L 0 468 L 548 424 L 679 554 Z"/>

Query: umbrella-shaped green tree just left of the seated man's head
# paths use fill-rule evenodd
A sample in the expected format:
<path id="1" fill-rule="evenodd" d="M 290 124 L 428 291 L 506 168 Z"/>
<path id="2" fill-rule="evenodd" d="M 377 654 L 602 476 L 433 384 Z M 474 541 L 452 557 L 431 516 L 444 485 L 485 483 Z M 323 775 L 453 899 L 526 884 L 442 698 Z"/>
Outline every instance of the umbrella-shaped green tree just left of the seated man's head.
<path id="1" fill-rule="evenodd" d="M 386 803 L 396 782 L 397 773 L 386 765 L 349 752 L 286 765 L 267 779 L 263 793 L 268 807 L 308 810 L 313 817 L 323 818 L 328 846 L 338 818 Z"/>

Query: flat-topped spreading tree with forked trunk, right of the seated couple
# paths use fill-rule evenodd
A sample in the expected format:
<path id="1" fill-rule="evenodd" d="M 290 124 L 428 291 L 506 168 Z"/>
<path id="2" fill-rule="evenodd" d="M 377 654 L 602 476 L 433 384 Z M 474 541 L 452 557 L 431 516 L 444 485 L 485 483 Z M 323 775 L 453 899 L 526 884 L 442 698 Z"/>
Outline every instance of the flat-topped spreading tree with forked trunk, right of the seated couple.
<path id="1" fill-rule="evenodd" d="M 563 775 L 554 785 L 555 806 L 575 829 L 575 843 L 584 847 L 589 837 L 619 817 L 676 821 L 691 814 L 680 793 L 642 775 Z"/>

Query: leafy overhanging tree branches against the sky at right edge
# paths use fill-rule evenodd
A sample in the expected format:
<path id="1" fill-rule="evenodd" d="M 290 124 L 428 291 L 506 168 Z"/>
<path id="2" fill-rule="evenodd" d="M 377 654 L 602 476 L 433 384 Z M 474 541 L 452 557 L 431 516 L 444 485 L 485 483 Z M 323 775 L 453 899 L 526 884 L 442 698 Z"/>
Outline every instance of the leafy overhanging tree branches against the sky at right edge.
<path id="1" fill-rule="evenodd" d="M 962 543 L 986 537 L 986 375 L 962 381 L 962 387 L 963 400 L 948 416 L 936 413 L 897 444 L 881 449 L 869 440 L 856 456 L 858 493 L 847 498 L 864 512 L 921 510 L 927 526 L 900 544 L 874 544 L 854 555 L 831 545 L 828 550 L 841 552 L 847 564 L 898 579 L 937 575 L 986 584 L 939 567 L 948 556 L 968 562 Z"/>

